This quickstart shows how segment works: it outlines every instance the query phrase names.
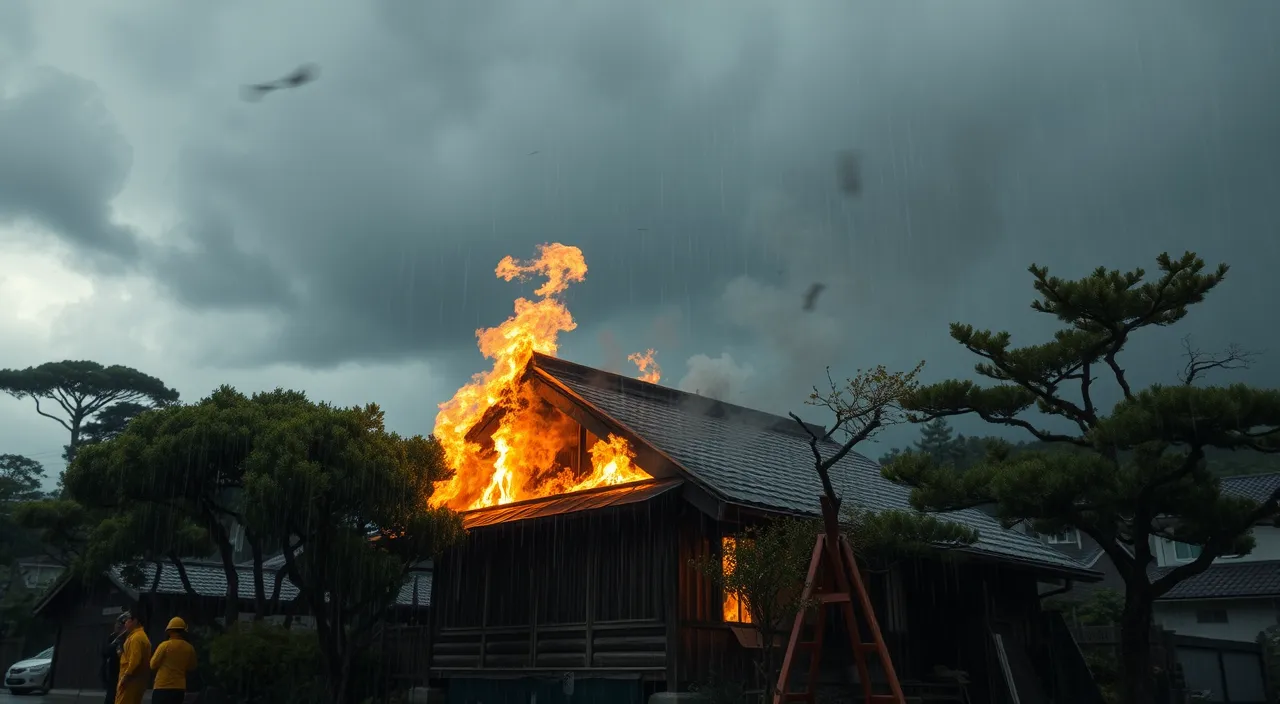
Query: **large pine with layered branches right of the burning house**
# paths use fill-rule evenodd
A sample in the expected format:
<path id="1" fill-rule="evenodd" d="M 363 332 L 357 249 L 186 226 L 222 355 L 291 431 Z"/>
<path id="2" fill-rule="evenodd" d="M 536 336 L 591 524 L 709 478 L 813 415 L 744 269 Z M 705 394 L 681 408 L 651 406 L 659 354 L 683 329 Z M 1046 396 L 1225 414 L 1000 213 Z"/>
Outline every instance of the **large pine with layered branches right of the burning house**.
<path id="1" fill-rule="evenodd" d="M 1194 253 L 1157 257 L 1160 274 L 1107 271 L 1079 280 L 1050 276 L 1032 265 L 1038 300 L 1032 308 L 1061 324 L 1052 340 L 1012 347 L 1009 333 L 952 324 L 951 337 L 980 357 L 977 372 L 995 385 L 948 380 L 922 387 L 904 401 L 914 420 L 975 415 L 1074 452 L 989 443 L 966 472 L 950 471 L 925 452 L 905 452 L 883 472 L 911 485 L 916 508 L 954 511 L 991 504 L 1009 524 L 1029 521 L 1041 534 L 1078 529 L 1106 550 L 1125 581 L 1121 614 L 1121 698 L 1152 704 L 1152 607 L 1157 598 L 1224 554 L 1253 549 L 1252 527 L 1277 515 L 1280 492 L 1258 503 L 1224 495 L 1206 462 L 1212 448 L 1280 452 L 1280 392 L 1244 384 L 1202 387 L 1211 370 L 1242 366 L 1231 347 L 1206 356 L 1188 349 L 1179 384 L 1133 389 L 1120 355 L 1135 333 L 1187 316 L 1226 276 L 1204 271 Z M 1110 413 L 1097 406 L 1103 379 L 1120 401 Z M 1038 417 L 1036 413 L 1038 412 Z M 1044 416 L 1071 431 L 1048 429 Z M 1152 538 L 1201 548 L 1194 561 L 1156 580 Z"/>

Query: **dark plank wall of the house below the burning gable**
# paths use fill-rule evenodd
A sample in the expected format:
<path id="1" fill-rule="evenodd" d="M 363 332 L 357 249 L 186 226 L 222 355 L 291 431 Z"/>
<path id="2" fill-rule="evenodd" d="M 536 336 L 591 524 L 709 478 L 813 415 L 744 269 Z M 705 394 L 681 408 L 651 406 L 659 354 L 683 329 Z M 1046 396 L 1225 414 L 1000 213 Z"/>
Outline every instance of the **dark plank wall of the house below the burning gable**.
<path id="1" fill-rule="evenodd" d="M 472 530 L 435 568 L 431 669 L 666 677 L 678 493 Z"/>

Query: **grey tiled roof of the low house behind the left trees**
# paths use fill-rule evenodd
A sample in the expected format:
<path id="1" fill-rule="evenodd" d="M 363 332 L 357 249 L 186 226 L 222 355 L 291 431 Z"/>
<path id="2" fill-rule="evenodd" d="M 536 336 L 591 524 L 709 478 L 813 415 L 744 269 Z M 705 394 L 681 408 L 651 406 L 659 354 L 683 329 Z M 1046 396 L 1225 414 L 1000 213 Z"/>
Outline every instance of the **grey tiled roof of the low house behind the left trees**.
<path id="1" fill-rule="evenodd" d="M 160 581 L 155 582 L 156 566 L 160 566 Z M 220 598 L 227 595 L 227 573 L 223 571 L 221 564 L 206 563 L 206 562 L 184 562 L 187 568 L 187 579 L 191 581 L 191 588 L 196 590 L 201 596 Z M 264 561 L 264 586 L 266 588 L 268 598 L 271 595 L 271 590 L 275 588 L 275 570 L 265 567 L 266 561 Z M 110 571 L 110 577 L 120 585 L 128 586 L 134 591 L 141 591 L 145 594 L 186 594 L 187 590 L 182 586 L 182 579 L 178 576 L 178 570 L 170 563 L 155 563 L 147 562 L 138 567 L 138 579 L 133 586 L 131 581 L 125 579 L 125 572 L 128 570 L 123 566 L 113 567 Z M 242 567 L 237 570 L 239 575 L 239 598 L 244 600 L 253 599 L 253 570 L 252 567 Z M 155 584 L 155 590 L 152 591 L 152 584 Z M 416 593 L 416 602 L 415 602 Z M 293 582 L 288 577 L 280 581 L 280 600 L 292 602 L 298 596 L 298 589 L 293 586 Z M 430 605 L 431 604 L 431 572 L 416 572 L 411 575 L 404 585 L 401 586 L 399 594 L 396 598 L 397 605 Z"/>

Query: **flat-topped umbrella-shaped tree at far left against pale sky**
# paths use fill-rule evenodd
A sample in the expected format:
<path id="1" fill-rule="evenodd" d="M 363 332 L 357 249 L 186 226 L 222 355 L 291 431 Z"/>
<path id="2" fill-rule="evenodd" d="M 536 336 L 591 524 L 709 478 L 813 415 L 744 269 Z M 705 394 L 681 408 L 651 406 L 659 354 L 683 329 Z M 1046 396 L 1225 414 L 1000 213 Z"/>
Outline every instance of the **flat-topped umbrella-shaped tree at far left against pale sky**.
<path id="1" fill-rule="evenodd" d="M 45 362 L 27 369 L 0 370 L 0 392 L 14 398 L 31 398 L 36 402 L 36 412 L 54 420 L 70 433 L 65 458 L 72 458 L 79 448 L 86 421 L 104 412 L 111 404 L 137 404 L 146 402 L 152 406 L 165 406 L 178 401 L 178 392 L 164 385 L 164 381 L 148 376 L 136 369 L 111 365 L 102 366 L 91 361 Z M 52 403 L 63 410 L 65 416 L 56 416 L 41 407 L 40 402 Z M 119 421 L 123 410 L 108 412 L 105 428 Z M 51 408 L 50 408 L 51 410 Z M 95 429 L 93 433 L 102 433 Z"/>

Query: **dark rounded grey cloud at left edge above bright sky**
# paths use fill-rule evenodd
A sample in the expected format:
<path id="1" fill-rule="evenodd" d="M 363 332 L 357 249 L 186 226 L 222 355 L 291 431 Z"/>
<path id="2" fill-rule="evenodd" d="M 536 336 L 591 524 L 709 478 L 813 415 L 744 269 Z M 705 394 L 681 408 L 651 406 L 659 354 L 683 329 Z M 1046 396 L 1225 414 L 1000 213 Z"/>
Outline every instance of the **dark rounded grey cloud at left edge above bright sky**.
<path id="1" fill-rule="evenodd" d="M 0 220 L 33 223 L 119 265 L 134 233 L 111 220 L 133 151 L 96 86 L 42 68 L 0 95 Z"/>

